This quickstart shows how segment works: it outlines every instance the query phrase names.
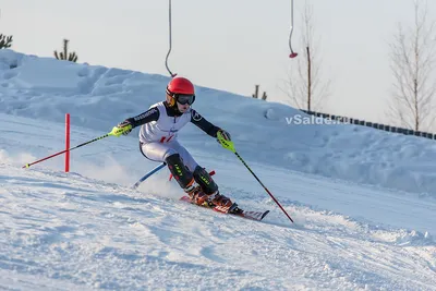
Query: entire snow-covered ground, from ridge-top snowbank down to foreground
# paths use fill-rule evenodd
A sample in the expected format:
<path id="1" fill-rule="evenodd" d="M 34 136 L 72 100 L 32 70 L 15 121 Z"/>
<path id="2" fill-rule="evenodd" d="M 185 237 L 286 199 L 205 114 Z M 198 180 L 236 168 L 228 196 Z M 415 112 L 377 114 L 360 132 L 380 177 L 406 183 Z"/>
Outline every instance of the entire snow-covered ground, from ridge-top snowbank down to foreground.
<path id="1" fill-rule="evenodd" d="M 17 65 L 10 69 L 11 64 Z M 435 144 L 354 125 L 289 125 L 298 110 L 197 87 L 195 108 L 241 156 L 195 126 L 181 142 L 263 222 L 178 202 L 137 131 L 100 136 L 162 98 L 168 77 L 0 50 L 0 288 L 13 290 L 436 290 Z"/>

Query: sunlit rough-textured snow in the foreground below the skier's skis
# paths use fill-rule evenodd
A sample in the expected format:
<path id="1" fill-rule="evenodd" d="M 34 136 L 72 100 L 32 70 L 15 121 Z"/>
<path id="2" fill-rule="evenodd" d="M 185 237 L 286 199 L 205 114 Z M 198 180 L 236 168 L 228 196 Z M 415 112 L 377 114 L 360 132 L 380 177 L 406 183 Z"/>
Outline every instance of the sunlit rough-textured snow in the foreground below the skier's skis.
<path id="1" fill-rule="evenodd" d="M 282 203 L 299 217 L 295 225 L 266 199 L 259 203 L 271 213 L 257 222 L 74 173 L 0 165 L 0 184 L 3 288 L 11 282 L 33 290 L 436 286 L 433 240 L 288 201 Z M 239 203 L 255 205 L 243 197 Z"/>

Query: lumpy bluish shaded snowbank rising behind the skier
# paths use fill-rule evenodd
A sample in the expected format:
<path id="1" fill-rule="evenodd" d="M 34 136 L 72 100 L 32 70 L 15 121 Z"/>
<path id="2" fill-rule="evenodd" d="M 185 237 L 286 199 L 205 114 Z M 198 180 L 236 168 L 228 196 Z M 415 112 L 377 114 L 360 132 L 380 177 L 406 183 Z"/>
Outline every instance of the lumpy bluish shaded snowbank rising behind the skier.
<path id="1" fill-rule="evenodd" d="M 10 70 L 10 65 L 17 65 Z M 169 78 L 0 51 L 0 112 L 109 131 L 164 98 Z M 195 108 L 263 163 L 436 195 L 436 144 L 358 125 L 289 125 L 300 111 L 197 87 Z M 185 141 L 207 137 L 194 126 Z M 214 143 L 208 141 L 206 145 Z"/>

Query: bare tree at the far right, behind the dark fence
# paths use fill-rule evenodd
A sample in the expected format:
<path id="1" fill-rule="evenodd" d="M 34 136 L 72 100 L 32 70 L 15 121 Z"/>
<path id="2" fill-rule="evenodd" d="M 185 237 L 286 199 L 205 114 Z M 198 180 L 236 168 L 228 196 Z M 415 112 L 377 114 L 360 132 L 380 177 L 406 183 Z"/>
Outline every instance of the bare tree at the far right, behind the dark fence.
<path id="1" fill-rule="evenodd" d="M 400 23 L 390 44 L 393 90 L 388 114 L 415 131 L 431 129 L 435 119 L 436 34 L 427 16 L 427 2 L 415 0 L 413 26 L 404 31 Z"/>

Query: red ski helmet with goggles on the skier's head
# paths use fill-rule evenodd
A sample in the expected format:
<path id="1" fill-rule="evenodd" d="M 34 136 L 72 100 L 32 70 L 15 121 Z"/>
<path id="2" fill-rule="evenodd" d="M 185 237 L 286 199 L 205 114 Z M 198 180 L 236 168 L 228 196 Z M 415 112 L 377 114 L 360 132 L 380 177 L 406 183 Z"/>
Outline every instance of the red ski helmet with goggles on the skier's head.
<path id="1" fill-rule="evenodd" d="M 167 86 L 167 102 L 174 106 L 175 102 L 192 105 L 195 101 L 195 89 L 191 81 L 185 77 L 174 77 Z"/>

